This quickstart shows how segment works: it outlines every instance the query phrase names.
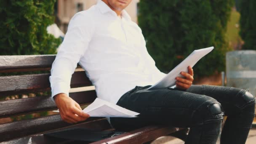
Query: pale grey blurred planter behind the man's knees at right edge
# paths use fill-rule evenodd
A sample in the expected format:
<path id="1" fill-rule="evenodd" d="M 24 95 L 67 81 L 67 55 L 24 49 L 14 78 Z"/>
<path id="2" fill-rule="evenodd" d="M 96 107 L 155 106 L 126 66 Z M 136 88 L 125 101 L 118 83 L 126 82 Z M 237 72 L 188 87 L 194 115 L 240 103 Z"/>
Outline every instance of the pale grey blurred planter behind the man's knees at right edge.
<path id="1" fill-rule="evenodd" d="M 227 86 L 248 89 L 256 95 L 256 51 L 226 53 Z"/>

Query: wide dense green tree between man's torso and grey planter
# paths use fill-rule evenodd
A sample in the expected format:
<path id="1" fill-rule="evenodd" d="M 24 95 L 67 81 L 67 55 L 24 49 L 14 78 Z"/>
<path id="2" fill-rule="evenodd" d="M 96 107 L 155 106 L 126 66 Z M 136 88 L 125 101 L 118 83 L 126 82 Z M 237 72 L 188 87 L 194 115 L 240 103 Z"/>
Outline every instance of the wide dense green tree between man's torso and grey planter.
<path id="1" fill-rule="evenodd" d="M 225 37 L 234 0 L 140 0 L 139 26 L 156 66 L 169 72 L 195 49 L 215 49 L 193 68 L 195 76 L 225 68 Z"/>

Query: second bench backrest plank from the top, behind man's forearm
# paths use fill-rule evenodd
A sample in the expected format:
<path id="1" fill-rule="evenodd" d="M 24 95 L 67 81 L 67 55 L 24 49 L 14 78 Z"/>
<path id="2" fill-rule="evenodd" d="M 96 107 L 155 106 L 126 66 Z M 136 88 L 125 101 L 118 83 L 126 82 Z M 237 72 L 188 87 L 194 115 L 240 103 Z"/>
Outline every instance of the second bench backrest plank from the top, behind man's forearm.
<path id="1" fill-rule="evenodd" d="M 0 97 L 37 91 L 51 91 L 50 74 L 14 75 L 0 77 Z M 71 88 L 92 85 L 84 71 L 74 72 Z"/>

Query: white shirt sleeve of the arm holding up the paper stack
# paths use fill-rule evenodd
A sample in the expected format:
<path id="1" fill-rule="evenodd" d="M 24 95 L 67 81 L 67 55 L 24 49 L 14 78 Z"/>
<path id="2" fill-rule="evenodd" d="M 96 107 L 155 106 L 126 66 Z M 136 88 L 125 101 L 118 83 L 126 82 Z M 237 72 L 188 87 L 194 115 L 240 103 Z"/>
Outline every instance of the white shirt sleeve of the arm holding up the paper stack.
<path id="1" fill-rule="evenodd" d="M 139 28 L 140 29 L 140 28 Z M 142 43 L 142 54 L 145 58 L 145 62 L 147 67 L 149 68 L 151 74 L 152 74 L 152 79 L 155 82 L 158 82 L 159 80 L 161 80 L 163 77 L 165 77 L 167 74 L 161 72 L 156 66 L 155 66 L 155 61 L 154 59 L 149 55 L 148 51 L 147 51 L 147 47 L 146 47 L 146 41 L 144 39 L 144 36 L 141 32 L 140 29 L 140 37 L 141 37 L 141 43 Z"/>

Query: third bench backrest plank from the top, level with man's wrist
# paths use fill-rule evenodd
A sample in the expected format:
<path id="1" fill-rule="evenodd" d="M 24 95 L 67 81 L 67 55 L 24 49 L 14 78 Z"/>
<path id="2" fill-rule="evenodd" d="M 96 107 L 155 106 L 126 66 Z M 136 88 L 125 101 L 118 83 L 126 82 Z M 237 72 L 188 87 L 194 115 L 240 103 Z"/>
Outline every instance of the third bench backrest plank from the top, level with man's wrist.
<path id="1" fill-rule="evenodd" d="M 70 93 L 69 96 L 79 104 L 88 104 L 96 99 L 96 92 L 82 91 Z M 51 96 L 36 96 L 0 101 L 0 118 L 53 110 L 56 108 L 56 104 L 51 100 Z"/>

